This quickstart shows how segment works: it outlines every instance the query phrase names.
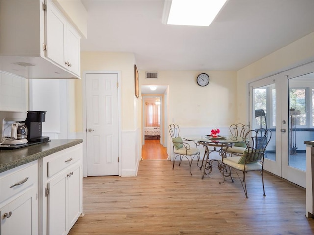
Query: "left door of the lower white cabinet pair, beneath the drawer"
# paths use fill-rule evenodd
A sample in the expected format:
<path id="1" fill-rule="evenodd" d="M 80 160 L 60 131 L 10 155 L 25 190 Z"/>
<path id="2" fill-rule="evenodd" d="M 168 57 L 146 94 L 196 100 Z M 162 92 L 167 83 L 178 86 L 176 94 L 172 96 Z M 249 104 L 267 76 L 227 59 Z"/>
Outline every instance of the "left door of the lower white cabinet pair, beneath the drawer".
<path id="1" fill-rule="evenodd" d="M 47 184 L 47 234 L 67 234 L 67 175 L 62 173 Z"/>

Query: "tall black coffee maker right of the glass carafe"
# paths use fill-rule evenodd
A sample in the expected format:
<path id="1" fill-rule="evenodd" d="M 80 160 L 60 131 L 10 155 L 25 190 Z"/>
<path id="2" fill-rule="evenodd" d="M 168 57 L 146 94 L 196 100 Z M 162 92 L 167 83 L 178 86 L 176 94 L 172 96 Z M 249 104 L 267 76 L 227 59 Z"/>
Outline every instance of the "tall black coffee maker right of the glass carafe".
<path id="1" fill-rule="evenodd" d="M 27 127 L 28 142 L 38 143 L 49 141 L 48 136 L 42 135 L 42 122 L 45 122 L 45 115 L 47 111 L 27 111 L 27 118 L 25 125 Z"/>

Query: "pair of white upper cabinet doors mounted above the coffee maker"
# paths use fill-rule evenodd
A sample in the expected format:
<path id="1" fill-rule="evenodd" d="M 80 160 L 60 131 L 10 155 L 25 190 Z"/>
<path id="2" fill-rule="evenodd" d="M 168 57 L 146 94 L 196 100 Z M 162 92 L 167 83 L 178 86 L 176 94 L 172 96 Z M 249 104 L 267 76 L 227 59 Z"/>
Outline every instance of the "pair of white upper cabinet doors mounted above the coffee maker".
<path id="1" fill-rule="evenodd" d="M 47 1 L 46 29 L 47 57 L 79 76 L 80 36 L 51 1 Z"/>

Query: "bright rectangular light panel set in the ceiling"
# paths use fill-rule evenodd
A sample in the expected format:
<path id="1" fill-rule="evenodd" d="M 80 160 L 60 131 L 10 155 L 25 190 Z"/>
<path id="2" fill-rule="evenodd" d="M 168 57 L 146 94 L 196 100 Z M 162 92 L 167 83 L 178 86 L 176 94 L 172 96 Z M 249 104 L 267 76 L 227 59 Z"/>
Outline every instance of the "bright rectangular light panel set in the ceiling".
<path id="1" fill-rule="evenodd" d="M 227 0 L 165 1 L 163 23 L 209 26 Z"/>

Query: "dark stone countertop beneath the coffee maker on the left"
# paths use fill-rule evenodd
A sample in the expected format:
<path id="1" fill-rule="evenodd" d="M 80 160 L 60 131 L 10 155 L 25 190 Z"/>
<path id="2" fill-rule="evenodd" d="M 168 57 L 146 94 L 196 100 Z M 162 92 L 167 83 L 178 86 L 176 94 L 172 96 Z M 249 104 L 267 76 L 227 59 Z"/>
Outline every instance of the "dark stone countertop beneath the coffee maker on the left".
<path id="1" fill-rule="evenodd" d="M 51 140 L 46 143 L 40 143 L 15 150 L 1 150 L 0 173 L 46 157 L 63 149 L 70 148 L 82 142 L 82 139 Z"/>

